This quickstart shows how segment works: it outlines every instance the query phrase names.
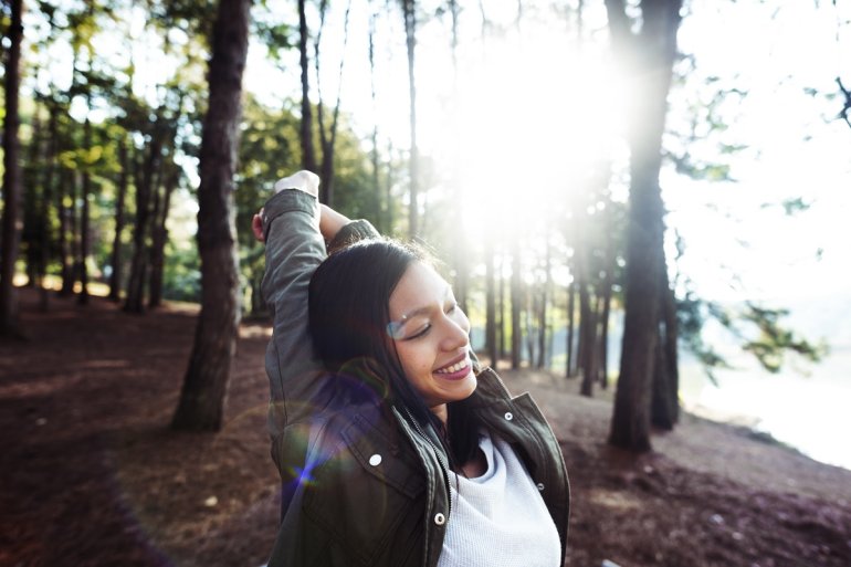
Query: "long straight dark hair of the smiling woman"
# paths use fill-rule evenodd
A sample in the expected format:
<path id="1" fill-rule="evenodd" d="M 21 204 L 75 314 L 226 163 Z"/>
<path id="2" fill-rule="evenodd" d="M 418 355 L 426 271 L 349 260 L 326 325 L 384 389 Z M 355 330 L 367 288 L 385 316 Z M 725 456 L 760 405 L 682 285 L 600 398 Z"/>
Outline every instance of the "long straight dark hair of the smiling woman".
<path id="1" fill-rule="evenodd" d="M 402 416 L 410 414 L 422 426 L 431 423 L 441 432 L 453 468 L 460 469 L 479 447 L 479 420 L 465 400 L 450 402 L 444 428 L 405 376 L 387 335 L 390 295 L 417 262 L 433 265 L 422 248 L 388 239 L 360 241 L 332 253 L 311 279 L 311 337 L 314 350 L 333 372 L 344 371 L 354 360 L 374 364 L 390 402 Z"/>

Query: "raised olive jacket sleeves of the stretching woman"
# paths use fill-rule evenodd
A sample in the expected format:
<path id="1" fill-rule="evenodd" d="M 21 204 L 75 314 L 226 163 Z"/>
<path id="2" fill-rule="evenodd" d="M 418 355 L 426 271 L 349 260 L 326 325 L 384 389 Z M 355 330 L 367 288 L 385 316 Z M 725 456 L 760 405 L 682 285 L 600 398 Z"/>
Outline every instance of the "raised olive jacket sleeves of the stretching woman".
<path id="1" fill-rule="evenodd" d="M 261 291 L 273 324 L 266 347 L 271 390 L 270 433 L 313 412 L 323 387 L 322 361 L 316 358 L 307 330 L 307 288 L 314 270 L 326 256 L 319 233 L 319 206 L 315 197 L 286 189 L 263 208 L 266 272 Z M 378 233 L 367 221 L 344 227 L 329 244 L 335 249 Z"/>

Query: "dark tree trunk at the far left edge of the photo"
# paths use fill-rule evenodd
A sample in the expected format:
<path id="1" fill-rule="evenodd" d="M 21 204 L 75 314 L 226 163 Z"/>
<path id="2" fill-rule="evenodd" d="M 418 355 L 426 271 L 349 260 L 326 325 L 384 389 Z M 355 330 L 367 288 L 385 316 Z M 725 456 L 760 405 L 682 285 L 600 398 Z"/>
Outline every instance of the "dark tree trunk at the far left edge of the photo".
<path id="1" fill-rule="evenodd" d="M 0 260 L 0 335 L 20 336 L 18 293 L 14 288 L 14 263 L 21 239 L 21 165 L 18 129 L 18 92 L 21 84 L 21 0 L 10 0 L 9 48 L 6 62 L 6 116 L 3 117 L 3 222 L 2 259 Z"/>

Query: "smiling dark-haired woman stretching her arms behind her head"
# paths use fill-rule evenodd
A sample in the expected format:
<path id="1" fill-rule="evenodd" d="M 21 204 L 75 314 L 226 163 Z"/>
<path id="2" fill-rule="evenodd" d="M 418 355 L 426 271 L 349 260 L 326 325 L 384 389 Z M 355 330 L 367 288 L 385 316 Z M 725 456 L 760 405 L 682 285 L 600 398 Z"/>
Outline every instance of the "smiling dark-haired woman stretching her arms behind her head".
<path id="1" fill-rule="evenodd" d="M 559 567 L 569 486 L 528 395 L 471 351 L 470 322 L 416 248 L 319 206 L 307 171 L 254 218 L 272 454 L 270 567 Z"/>

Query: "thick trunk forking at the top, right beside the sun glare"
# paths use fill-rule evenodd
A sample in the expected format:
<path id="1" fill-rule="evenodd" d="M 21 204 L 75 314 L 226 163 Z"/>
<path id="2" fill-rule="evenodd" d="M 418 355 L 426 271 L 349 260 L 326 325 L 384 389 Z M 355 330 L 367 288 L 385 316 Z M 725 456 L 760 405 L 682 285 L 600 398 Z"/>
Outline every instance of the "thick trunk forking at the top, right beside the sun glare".
<path id="1" fill-rule="evenodd" d="M 642 25 L 633 35 L 622 0 L 606 0 L 613 46 L 632 57 L 637 93 L 630 102 L 630 196 L 627 229 L 626 305 L 620 376 L 609 442 L 649 451 L 651 381 L 659 327 L 660 270 L 664 270 L 664 207 L 659 186 L 662 133 L 676 54 L 682 0 L 641 2 Z"/>

